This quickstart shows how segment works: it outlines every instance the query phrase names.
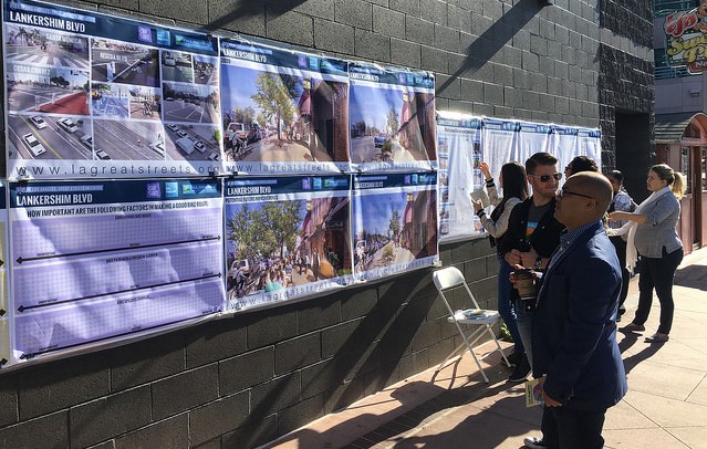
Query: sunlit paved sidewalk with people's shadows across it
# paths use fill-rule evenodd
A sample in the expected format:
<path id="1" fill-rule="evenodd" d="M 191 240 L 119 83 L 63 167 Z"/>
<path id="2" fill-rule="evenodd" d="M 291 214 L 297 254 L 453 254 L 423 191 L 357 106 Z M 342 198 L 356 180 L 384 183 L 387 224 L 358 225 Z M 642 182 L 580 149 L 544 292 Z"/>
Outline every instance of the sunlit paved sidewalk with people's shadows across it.
<path id="1" fill-rule="evenodd" d="M 628 394 L 606 414 L 606 448 L 707 448 L 707 249 L 685 257 L 674 299 L 669 342 L 643 341 L 657 328 L 657 297 L 643 335 L 618 334 Z M 631 321 L 636 302 L 634 278 L 620 326 Z M 491 351 L 487 343 L 477 354 Z M 488 385 L 467 354 L 437 375 L 428 369 L 268 447 L 522 448 L 524 437 L 540 436 L 542 410 L 526 408 L 522 384 L 506 382 L 510 369 L 498 353 L 482 363 Z"/>

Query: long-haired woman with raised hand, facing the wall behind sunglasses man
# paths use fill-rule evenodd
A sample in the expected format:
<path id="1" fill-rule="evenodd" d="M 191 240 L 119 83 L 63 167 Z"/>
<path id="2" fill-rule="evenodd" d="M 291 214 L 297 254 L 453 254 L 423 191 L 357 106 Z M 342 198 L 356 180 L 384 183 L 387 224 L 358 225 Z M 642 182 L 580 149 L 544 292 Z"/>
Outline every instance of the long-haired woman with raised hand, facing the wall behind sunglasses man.
<path id="1" fill-rule="evenodd" d="M 491 246 L 496 246 L 498 240 L 503 239 L 508 229 L 508 219 L 513 208 L 528 198 L 528 181 L 526 169 L 518 163 L 503 164 L 498 182 L 503 189 L 503 197 L 499 198 L 496 190 L 496 184 L 491 177 L 491 170 L 488 164 L 479 165 L 484 178 L 486 178 L 486 190 L 491 205 L 495 207 L 491 217 L 487 217 L 481 200 L 471 199 L 474 211 L 481 220 L 481 224 L 488 231 L 491 239 Z M 506 262 L 503 254 L 498 253 L 498 312 L 506 322 L 508 331 L 513 338 L 514 347 L 511 355 L 508 356 L 510 363 L 518 365 L 523 358 L 526 348 L 518 333 L 516 324 L 516 311 L 511 305 L 511 283 L 509 281 L 512 267 Z"/>

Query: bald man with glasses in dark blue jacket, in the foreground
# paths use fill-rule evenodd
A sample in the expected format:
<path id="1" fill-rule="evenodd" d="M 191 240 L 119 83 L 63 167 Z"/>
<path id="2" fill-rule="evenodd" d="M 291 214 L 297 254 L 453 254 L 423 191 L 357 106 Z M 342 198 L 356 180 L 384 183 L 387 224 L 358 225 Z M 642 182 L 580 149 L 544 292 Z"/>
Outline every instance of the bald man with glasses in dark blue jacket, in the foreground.
<path id="1" fill-rule="evenodd" d="M 594 173 L 571 176 L 557 195 L 554 217 L 566 233 L 543 276 L 532 326 L 550 449 L 602 448 L 606 409 L 626 394 L 616 344 L 621 268 L 602 224 L 611 199 L 611 184 Z"/>

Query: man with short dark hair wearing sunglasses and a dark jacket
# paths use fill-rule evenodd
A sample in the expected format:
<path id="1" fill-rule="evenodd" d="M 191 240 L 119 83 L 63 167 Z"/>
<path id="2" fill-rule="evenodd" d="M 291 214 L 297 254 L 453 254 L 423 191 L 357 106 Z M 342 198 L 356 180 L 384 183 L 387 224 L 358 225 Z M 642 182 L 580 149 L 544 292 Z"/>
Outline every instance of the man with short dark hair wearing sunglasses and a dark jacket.
<path id="1" fill-rule="evenodd" d="M 554 195 L 562 179 L 558 171 L 558 159 L 549 153 L 536 153 L 526 160 L 528 182 L 532 197 L 516 206 L 510 215 L 506 238 L 499 243 L 499 253 L 510 264 L 542 270 L 550 255 L 560 244 L 560 233 L 564 229 L 554 219 Z M 532 363 L 531 330 L 534 303 L 522 301 L 517 290 L 511 291 L 513 307 L 518 316 L 518 331 L 526 347 L 526 357 L 516 366 L 508 378 L 522 382 L 530 374 Z"/>

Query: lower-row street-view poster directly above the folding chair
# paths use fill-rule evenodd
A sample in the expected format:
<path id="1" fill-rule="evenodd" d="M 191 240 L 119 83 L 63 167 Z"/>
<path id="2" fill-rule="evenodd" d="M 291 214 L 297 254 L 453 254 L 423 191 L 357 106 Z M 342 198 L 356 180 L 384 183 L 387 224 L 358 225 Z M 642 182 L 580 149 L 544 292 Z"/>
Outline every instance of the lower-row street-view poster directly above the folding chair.
<path id="1" fill-rule="evenodd" d="M 354 276 L 368 281 L 439 260 L 437 174 L 353 177 Z"/>

